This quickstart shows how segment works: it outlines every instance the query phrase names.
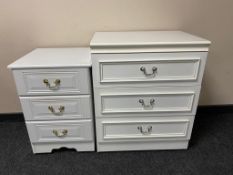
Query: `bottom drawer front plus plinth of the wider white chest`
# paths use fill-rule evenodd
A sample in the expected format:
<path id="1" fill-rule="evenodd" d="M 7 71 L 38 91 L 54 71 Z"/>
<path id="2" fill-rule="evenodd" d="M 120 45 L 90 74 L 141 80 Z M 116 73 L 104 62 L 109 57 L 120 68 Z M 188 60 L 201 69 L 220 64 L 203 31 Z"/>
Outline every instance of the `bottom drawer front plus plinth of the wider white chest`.
<path id="1" fill-rule="evenodd" d="M 96 119 L 97 150 L 170 150 L 187 149 L 192 133 L 194 116 L 98 118 Z M 151 134 L 143 135 L 138 127 Z"/>

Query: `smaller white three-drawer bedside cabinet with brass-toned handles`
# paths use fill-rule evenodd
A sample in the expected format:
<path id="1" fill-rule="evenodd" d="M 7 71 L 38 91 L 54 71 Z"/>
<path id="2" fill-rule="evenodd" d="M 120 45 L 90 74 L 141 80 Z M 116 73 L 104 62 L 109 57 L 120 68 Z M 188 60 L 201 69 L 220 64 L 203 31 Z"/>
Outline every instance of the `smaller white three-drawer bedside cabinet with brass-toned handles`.
<path id="1" fill-rule="evenodd" d="M 94 151 L 89 48 L 39 48 L 8 67 L 34 153 Z"/>

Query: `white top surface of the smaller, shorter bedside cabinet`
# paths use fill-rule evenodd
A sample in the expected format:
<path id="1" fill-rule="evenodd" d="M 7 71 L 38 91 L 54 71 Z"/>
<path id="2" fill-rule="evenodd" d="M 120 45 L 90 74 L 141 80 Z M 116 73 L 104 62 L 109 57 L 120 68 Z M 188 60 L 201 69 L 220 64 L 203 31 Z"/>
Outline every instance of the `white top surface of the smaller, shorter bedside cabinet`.
<path id="1" fill-rule="evenodd" d="M 10 64 L 10 69 L 91 67 L 90 48 L 38 48 Z"/>

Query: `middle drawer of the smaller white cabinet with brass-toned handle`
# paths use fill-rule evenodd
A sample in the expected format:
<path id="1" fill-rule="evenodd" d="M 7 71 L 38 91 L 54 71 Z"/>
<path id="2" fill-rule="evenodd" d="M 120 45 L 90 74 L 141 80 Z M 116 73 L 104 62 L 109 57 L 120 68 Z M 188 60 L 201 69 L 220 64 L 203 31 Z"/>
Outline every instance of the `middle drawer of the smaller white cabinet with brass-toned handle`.
<path id="1" fill-rule="evenodd" d="M 20 97 L 25 120 L 92 118 L 90 95 Z"/>

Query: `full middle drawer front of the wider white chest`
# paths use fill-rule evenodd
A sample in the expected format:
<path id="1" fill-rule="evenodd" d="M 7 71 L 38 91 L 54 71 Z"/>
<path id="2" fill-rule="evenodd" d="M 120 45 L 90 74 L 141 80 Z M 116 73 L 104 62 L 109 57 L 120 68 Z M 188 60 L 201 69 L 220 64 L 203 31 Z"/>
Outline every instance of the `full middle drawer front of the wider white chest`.
<path id="1" fill-rule="evenodd" d="M 200 87 L 95 90 L 96 117 L 195 115 Z"/>

